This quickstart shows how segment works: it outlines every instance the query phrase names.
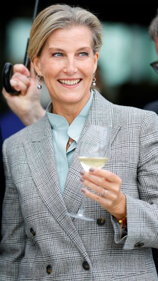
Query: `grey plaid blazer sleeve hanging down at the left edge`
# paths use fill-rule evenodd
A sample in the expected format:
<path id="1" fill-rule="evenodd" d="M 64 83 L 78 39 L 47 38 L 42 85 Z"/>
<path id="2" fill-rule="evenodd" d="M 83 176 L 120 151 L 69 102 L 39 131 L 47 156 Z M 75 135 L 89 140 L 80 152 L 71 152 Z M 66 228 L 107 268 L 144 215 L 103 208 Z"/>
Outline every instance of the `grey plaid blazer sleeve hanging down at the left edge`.
<path id="1" fill-rule="evenodd" d="M 0 280 L 16 281 L 19 276 L 19 264 L 25 252 L 26 234 L 18 194 L 12 182 L 5 148 L 6 141 L 3 144 L 6 189 L 2 207 Z"/>

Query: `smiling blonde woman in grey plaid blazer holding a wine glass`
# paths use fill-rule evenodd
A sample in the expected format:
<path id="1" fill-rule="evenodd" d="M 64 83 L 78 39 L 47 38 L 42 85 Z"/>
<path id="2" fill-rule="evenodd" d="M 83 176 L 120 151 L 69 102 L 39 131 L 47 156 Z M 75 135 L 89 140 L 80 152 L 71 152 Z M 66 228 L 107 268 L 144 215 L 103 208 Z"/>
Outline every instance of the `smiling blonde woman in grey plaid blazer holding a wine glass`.
<path id="1" fill-rule="evenodd" d="M 0 280 L 158 280 L 158 116 L 90 90 L 100 47 L 99 20 L 79 7 L 52 5 L 33 24 L 29 57 L 52 104 L 3 145 Z M 112 145 L 106 166 L 85 172 L 88 124 L 111 128 Z M 83 193 L 95 222 L 66 215 Z"/>

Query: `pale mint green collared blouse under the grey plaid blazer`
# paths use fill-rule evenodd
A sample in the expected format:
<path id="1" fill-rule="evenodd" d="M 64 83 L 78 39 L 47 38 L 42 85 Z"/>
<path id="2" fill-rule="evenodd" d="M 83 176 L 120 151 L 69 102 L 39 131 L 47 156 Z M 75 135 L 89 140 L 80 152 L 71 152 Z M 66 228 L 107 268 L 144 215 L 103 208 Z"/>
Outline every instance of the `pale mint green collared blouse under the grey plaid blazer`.
<path id="1" fill-rule="evenodd" d="M 68 121 L 63 116 L 51 113 L 51 103 L 46 109 L 47 117 L 52 127 L 55 163 L 59 178 L 59 186 L 62 194 L 64 192 L 68 170 L 73 159 L 74 151 L 79 141 L 79 137 L 84 127 L 89 109 L 91 107 L 92 99 L 93 90 L 91 90 L 91 96 L 89 100 L 87 101 L 79 115 L 73 120 L 70 126 Z M 71 137 L 74 142 L 66 151 L 69 137 Z"/>

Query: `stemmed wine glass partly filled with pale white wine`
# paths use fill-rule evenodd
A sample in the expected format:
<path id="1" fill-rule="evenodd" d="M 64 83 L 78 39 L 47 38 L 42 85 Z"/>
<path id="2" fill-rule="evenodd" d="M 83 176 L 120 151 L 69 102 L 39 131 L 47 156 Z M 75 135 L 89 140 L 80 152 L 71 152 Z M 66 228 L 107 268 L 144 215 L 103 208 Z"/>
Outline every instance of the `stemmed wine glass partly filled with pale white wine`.
<path id="1" fill-rule="evenodd" d="M 89 171 L 90 167 L 101 168 L 109 160 L 111 149 L 111 130 L 98 125 L 89 125 L 85 131 L 79 145 L 79 161 L 85 171 Z M 78 213 L 67 213 L 68 216 L 79 218 L 87 221 L 94 219 L 84 215 L 84 199 L 79 208 Z"/>

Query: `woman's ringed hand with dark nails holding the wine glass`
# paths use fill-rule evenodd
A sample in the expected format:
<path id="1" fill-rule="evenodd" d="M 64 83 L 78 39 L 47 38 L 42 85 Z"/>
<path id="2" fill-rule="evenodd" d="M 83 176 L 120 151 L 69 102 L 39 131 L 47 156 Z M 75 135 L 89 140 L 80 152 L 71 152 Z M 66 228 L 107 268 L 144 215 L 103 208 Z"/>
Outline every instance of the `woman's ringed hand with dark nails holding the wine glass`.
<path id="1" fill-rule="evenodd" d="M 126 215 L 126 198 L 120 191 L 122 181 L 116 174 L 100 168 L 90 168 L 89 172 L 81 171 L 80 174 L 80 182 L 97 193 L 83 188 L 84 195 L 97 201 L 117 219 Z"/>

